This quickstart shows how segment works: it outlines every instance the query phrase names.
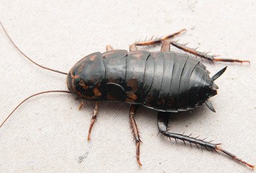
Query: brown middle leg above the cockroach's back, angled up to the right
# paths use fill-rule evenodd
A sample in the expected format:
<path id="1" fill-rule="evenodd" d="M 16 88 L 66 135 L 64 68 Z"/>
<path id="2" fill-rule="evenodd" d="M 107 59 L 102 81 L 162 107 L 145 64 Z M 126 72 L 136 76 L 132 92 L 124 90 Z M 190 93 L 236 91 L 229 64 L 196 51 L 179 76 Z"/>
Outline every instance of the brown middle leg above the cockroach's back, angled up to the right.
<path id="1" fill-rule="evenodd" d="M 162 38 L 156 38 L 156 39 L 153 39 L 153 40 L 150 39 L 150 40 L 147 40 L 147 41 L 144 41 L 144 42 L 135 42 L 134 44 L 130 45 L 130 51 L 131 51 L 131 49 L 133 51 L 137 51 L 136 46 L 150 46 L 150 45 L 155 45 L 155 44 L 161 44 L 165 40 L 169 40 L 169 39 L 177 36 L 178 34 L 184 32 L 184 31 L 186 31 L 186 29 L 182 29 L 182 30 L 178 31 L 177 33 L 173 33 L 173 34 L 164 36 Z"/>

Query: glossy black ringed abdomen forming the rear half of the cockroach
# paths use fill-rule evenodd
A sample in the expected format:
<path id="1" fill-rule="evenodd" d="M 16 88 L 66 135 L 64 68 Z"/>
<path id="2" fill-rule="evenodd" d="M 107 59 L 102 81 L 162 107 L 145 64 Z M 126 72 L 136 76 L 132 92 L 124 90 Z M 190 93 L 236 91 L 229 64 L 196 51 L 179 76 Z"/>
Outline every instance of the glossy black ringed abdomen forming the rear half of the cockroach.
<path id="1" fill-rule="evenodd" d="M 181 53 L 153 52 L 150 57 L 154 60 L 154 75 L 143 105 L 167 112 L 193 109 L 201 101 L 197 100 L 198 94 L 201 87 L 206 84 L 202 79 L 210 79 L 205 66 L 189 55 Z M 148 65 L 147 63 L 146 69 Z M 150 74 L 145 72 L 146 75 Z M 191 77 L 192 81 L 190 81 Z M 195 78 L 200 80 L 195 81 Z"/>

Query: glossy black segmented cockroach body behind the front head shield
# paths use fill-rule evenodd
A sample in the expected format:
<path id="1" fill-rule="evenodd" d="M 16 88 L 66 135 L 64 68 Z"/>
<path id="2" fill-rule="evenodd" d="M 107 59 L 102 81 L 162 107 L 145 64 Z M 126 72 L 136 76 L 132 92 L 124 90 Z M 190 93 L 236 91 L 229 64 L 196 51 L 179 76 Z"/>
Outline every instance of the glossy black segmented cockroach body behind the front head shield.
<path id="1" fill-rule="evenodd" d="M 102 55 L 106 100 L 142 104 L 167 112 L 187 111 L 204 101 L 198 96 L 210 77 L 205 66 L 189 55 L 125 50 Z"/>

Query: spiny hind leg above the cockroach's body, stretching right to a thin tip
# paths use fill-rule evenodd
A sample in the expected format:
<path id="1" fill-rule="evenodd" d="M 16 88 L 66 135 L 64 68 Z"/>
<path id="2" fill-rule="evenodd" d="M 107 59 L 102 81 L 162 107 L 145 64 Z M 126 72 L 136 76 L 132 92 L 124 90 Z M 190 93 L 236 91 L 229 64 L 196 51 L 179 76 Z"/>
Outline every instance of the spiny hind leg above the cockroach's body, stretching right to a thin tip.
<path id="1" fill-rule="evenodd" d="M 203 53 L 192 49 L 190 47 L 186 47 L 183 44 L 178 44 L 177 42 L 170 42 L 171 45 L 177 47 L 178 49 L 182 49 L 182 51 L 186 51 L 188 53 L 192 53 L 195 56 L 201 57 L 203 59 L 207 59 L 210 61 L 222 61 L 222 62 L 249 62 L 249 60 L 240 60 L 240 59 L 218 59 L 216 55 L 208 55 L 207 53 Z"/>

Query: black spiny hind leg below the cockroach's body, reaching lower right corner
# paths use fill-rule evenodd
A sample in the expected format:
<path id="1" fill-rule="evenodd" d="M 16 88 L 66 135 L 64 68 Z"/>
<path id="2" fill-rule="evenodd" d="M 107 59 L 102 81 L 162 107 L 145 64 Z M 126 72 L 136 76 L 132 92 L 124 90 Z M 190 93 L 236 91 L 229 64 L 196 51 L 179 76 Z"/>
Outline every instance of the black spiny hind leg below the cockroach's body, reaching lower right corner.
<path id="1" fill-rule="evenodd" d="M 255 165 L 251 165 L 245 161 L 242 161 L 242 159 L 237 158 L 232 153 L 229 153 L 229 152 L 223 150 L 222 148 L 220 148 L 220 144 L 212 144 L 210 142 L 204 141 L 204 139 L 201 140 L 201 139 L 197 139 L 197 137 L 196 138 L 190 137 L 190 135 L 187 136 L 187 135 L 180 135 L 178 133 L 168 132 L 168 130 L 167 130 L 168 121 L 169 121 L 169 113 L 158 112 L 158 130 L 160 133 L 165 135 L 165 137 L 168 137 L 169 139 L 173 138 L 176 141 L 177 141 L 177 139 L 180 139 L 184 143 L 185 143 L 185 141 L 190 142 L 190 144 L 195 144 L 197 146 L 197 148 L 199 148 L 198 145 L 200 145 L 201 148 L 205 147 L 207 150 L 212 149 L 212 150 L 215 150 L 216 152 L 220 151 L 222 153 L 227 154 L 229 157 L 235 159 L 239 163 L 249 166 L 249 168 L 252 168 L 252 169 L 255 168 Z"/>

